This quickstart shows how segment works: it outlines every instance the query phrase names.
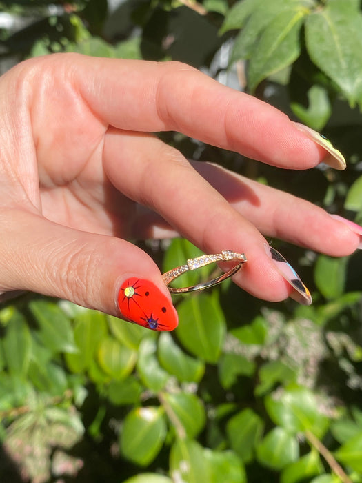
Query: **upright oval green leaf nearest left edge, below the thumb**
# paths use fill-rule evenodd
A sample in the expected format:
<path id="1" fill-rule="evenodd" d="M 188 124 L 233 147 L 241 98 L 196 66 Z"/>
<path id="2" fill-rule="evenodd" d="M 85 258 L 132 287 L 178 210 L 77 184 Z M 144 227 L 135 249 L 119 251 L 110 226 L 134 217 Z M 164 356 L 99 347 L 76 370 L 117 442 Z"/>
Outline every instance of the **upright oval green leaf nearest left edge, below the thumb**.
<path id="1" fill-rule="evenodd" d="M 32 337 L 23 315 L 14 310 L 3 338 L 3 357 L 12 375 L 24 377 L 32 353 Z"/>

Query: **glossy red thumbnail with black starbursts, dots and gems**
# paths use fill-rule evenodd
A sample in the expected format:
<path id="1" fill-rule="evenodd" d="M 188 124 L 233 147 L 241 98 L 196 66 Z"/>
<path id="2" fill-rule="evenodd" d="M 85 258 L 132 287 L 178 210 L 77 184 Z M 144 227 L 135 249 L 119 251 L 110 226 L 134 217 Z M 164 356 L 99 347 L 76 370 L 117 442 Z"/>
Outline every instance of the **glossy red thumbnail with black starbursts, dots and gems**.
<path id="1" fill-rule="evenodd" d="M 173 331 L 178 317 L 171 304 L 152 282 L 131 277 L 121 285 L 117 302 L 122 317 L 152 331 Z"/>

